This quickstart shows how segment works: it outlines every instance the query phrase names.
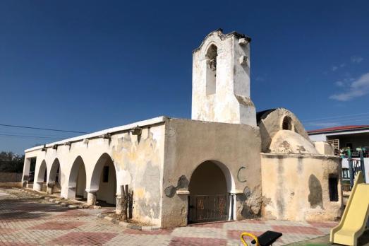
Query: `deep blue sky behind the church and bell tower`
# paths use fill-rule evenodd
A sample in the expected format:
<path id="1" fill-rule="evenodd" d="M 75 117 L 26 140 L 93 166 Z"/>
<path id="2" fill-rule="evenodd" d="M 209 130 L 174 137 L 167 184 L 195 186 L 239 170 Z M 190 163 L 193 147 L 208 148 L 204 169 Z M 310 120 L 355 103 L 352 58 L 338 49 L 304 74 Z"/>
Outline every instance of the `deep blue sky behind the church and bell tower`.
<path id="1" fill-rule="evenodd" d="M 217 28 L 253 39 L 258 111 L 286 107 L 307 129 L 369 124 L 368 10 L 368 1 L 0 1 L 0 124 L 96 131 L 190 118 L 191 52 Z M 0 151 L 74 135 L 0 127 Z"/>

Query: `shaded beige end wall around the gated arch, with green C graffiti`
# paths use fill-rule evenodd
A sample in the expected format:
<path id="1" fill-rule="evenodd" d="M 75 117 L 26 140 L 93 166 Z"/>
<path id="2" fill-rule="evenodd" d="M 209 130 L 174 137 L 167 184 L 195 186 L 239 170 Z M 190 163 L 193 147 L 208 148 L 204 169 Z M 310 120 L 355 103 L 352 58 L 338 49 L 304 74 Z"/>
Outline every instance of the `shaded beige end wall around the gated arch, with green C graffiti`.
<path id="1" fill-rule="evenodd" d="M 188 184 L 195 168 L 206 160 L 222 163 L 230 174 L 227 179 L 231 190 L 228 192 L 236 195 L 235 219 L 260 215 L 258 127 L 168 119 L 165 139 L 163 228 L 187 225 Z"/>

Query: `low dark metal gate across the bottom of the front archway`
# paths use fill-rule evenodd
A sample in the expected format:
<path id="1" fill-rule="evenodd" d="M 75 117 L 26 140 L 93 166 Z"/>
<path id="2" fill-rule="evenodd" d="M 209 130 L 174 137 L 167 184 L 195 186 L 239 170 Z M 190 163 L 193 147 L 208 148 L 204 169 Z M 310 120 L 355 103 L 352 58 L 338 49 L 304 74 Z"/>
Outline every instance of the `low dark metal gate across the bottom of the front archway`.
<path id="1" fill-rule="evenodd" d="M 229 201 L 229 194 L 189 196 L 188 223 L 227 221 Z"/>

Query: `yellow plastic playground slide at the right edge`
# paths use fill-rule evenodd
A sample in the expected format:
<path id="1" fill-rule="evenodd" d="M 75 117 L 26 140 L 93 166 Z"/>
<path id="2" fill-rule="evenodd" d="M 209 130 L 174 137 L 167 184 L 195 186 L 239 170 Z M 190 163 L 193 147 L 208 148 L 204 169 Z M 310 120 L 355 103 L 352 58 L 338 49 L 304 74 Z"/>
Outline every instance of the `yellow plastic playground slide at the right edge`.
<path id="1" fill-rule="evenodd" d="M 356 177 L 341 222 L 331 230 L 329 241 L 332 243 L 358 245 L 358 237 L 365 230 L 369 215 L 369 184 L 365 184 L 361 172 Z"/>

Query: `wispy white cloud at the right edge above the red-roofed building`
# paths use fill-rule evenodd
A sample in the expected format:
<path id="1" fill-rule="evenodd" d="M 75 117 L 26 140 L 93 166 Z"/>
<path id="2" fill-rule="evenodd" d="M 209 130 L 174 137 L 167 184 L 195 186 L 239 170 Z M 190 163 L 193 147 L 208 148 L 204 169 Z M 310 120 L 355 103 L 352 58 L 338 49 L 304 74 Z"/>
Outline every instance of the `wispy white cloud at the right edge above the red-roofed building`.
<path id="1" fill-rule="evenodd" d="M 363 74 L 360 78 L 351 82 L 348 90 L 329 96 L 329 99 L 346 102 L 353 98 L 358 98 L 369 93 L 369 73 Z"/>

